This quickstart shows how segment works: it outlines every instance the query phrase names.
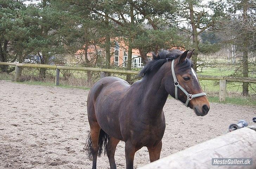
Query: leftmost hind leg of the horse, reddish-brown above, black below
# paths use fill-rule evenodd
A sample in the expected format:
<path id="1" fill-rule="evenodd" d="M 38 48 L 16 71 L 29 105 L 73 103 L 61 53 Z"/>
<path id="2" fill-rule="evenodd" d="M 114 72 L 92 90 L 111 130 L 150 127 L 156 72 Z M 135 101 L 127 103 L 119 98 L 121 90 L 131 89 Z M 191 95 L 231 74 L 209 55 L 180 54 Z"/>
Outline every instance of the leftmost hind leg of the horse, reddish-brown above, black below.
<path id="1" fill-rule="evenodd" d="M 90 124 L 91 128 L 91 142 L 92 142 L 92 169 L 96 169 L 97 164 L 97 155 L 98 155 L 98 140 L 100 136 L 100 126 L 98 125 L 98 122 L 93 122 Z"/>

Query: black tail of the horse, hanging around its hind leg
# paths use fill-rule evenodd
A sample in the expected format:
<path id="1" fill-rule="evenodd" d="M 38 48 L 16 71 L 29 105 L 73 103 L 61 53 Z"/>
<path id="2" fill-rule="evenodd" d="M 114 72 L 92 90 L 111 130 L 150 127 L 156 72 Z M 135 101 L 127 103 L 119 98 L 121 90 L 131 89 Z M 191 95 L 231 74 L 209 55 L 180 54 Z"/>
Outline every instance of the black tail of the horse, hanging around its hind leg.
<path id="1" fill-rule="evenodd" d="M 98 147 L 99 147 L 98 156 L 99 157 L 101 156 L 103 149 L 104 149 L 104 155 L 107 154 L 107 143 L 109 141 L 109 138 L 110 136 L 101 129 L 99 140 L 98 140 Z M 87 152 L 87 155 L 89 158 L 92 158 L 91 133 L 88 134 L 88 138 L 86 140 L 83 150 Z"/>

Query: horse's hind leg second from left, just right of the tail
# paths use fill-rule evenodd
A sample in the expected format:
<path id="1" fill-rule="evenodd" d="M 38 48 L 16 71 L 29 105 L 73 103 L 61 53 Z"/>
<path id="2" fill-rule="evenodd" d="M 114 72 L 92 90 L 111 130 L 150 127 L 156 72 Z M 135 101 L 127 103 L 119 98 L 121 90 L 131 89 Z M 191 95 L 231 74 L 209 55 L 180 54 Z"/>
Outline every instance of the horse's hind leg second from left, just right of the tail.
<path id="1" fill-rule="evenodd" d="M 107 155 L 110 164 L 110 169 L 116 169 L 115 151 L 119 141 L 120 140 L 117 140 L 114 137 L 110 137 L 109 142 L 107 144 Z"/>

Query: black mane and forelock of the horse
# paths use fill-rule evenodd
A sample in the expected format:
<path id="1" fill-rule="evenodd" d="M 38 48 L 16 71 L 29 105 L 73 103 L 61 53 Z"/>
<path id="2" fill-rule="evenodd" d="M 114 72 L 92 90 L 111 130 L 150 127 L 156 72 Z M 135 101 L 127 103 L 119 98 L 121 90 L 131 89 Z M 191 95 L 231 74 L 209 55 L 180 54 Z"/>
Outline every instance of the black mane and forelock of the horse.
<path id="1" fill-rule="evenodd" d="M 173 59 L 178 58 L 181 54 L 183 54 L 182 51 L 178 49 L 174 50 L 164 50 L 161 49 L 158 52 L 158 55 L 156 55 L 154 52 L 152 52 L 153 55 L 153 61 L 149 62 L 145 65 L 145 67 L 140 71 L 139 76 L 145 76 L 150 72 L 156 72 L 165 62 L 171 61 Z M 188 64 L 190 67 L 192 66 L 192 62 L 190 59 L 186 59 L 185 63 L 181 63 L 180 68 L 187 68 Z"/>

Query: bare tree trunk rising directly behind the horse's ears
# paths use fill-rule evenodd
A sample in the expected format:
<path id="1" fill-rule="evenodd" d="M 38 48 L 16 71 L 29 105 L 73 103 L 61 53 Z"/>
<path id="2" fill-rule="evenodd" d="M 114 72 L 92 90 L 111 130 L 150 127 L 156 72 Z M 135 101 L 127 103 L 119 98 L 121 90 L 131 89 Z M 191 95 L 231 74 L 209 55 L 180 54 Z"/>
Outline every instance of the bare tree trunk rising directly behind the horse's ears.
<path id="1" fill-rule="evenodd" d="M 197 56 L 198 56 L 198 34 L 197 34 L 197 26 L 194 21 L 194 9 L 193 9 L 193 3 L 190 2 L 189 4 L 190 9 L 190 20 L 191 20 L 191 26 L 192 26 L 192 35 L 193 35 L 193 48 L 195 49 L 193 52 L 192 61 L 194 63 L 194 70 L 197 72 Z"/>

